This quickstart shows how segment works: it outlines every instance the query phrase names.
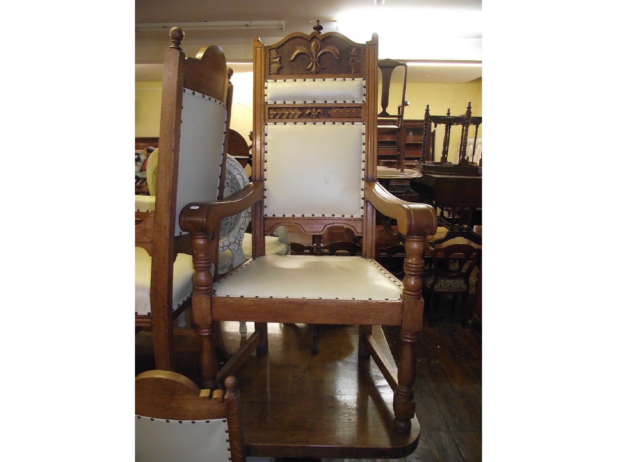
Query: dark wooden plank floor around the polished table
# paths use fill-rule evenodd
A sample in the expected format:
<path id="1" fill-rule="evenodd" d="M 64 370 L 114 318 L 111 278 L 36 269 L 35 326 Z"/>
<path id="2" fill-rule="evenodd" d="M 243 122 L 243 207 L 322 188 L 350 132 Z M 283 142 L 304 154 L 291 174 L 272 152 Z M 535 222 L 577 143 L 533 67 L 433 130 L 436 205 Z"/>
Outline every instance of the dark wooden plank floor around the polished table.
<path id="1" fill-rule="evenodd" d="M 473 299 L 474 295 L 471 294 L 471 304 Z M 458 309 L 451 309 L 450 297 L 437 296 L 433 326 L 429 327 L 425 319 L 424 329 L 420 333 L 416 346 L 415 394 L 421 435 L 415 452 L 404 459 L 407 462 L 482 460 L 482 341 L 478 332 L 460 326 L 459 313 Z M 397 362 L 400 328 L 383 326 L 383 330 Z M 140 339 L 143 334 L 148 333 L 137 336 L 136 373 L 154 368 L 151 354 L 144 351 L 144 343 Z M 195 342 L 180 341 L 176 342 L 176 349 L 184 346 L 194 349 L 194 345 Z M 189 377 L 196 374 L 195 352 L 183 357 L 192 358 L 191 363 L 194 364 L 179 366 Z M 292 462 L 280 462 L 288 461 Z M 322 460 L 343 461 L 355 460 Z"/>

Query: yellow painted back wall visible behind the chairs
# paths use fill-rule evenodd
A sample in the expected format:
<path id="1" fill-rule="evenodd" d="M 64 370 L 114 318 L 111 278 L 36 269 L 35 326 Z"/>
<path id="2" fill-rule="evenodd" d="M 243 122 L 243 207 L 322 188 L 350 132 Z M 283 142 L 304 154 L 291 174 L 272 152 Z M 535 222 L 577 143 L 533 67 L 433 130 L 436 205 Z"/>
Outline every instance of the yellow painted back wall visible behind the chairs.
<path id="1" fill-rule="evenodd" d="M 247 143 L 249 132 L 253 129 L 253 73 L 235 73 L 231 78 L 234 85 L 233 105 L 231 107 L 231 129 L 244 136 Z M 402 83 L 392 82 L 390 86 L 390 105 L 388 112 L 395 114 L 400 97 Z M 406 100 L 409 106 L 405 108 L 405 119 L 424 119 L 426 105 L 430 105 L 432 115 L 445 115 L 448 108 L 452 115 L 464 114 L 467 103 L 471 101 L 471 113 L 475 116 L 482 115 L 482 79 L 476 79 L 471 83 L 408 83 Z M 381 86 L 378 91 L 381 97 Z M 162 99 L 162 82 L 135 82 L 135 136 L 157 137 L 159 136 L 160 106 Z M 378 102 L 379 110 L 381 106 Z M 474 129 L 470 130 L 469 136 L 473 137 Z M 482 126 L 478 131 L 482 136 Z M 444 129 L 437 128 L 436 134 L 436 160 L 441 156 L 441 148 L 444 140 Z M 453 161 L 457 157 L 458 142 L 460 141 L 460 128 L 453 127 L 450 134 L 450 148 L 448 160 Z"/>

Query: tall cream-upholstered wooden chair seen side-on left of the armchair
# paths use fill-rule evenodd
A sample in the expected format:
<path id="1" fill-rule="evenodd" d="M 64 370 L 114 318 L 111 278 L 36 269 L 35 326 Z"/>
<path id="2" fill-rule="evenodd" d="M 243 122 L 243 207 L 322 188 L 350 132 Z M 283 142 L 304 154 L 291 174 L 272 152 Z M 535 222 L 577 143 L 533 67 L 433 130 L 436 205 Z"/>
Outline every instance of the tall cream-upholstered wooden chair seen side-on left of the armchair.
<path id="1" fill-rule="evenodd" d="M 180 229 L 178 215 L 186 203 L 223 197 L 220 177 L 232 94 L 218 46 L 200 52 L 201 59 L 185 59 L 183 31 L 172 28 L 170 35 L 155 209 L 135 226 L 135 326 L 152 329 L 155 365 L 165 370 L 174 367 L 173 320 L 189 306 L 193 291 L 191 237 Z"/>

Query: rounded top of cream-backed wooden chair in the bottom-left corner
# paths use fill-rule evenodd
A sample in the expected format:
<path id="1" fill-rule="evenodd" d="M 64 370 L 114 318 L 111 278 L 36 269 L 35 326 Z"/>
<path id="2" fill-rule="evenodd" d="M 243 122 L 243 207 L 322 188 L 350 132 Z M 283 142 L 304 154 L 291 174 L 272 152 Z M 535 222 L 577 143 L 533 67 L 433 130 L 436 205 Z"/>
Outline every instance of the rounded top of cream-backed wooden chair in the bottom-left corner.
<path id="1" fill-rule="evenodd" d="M 135 460 L 247 460 L 238 380 L 228 376 L 225 388 L 200 390 L 193 381 L 172 371 L 139 374 L 135 378 Z"/>

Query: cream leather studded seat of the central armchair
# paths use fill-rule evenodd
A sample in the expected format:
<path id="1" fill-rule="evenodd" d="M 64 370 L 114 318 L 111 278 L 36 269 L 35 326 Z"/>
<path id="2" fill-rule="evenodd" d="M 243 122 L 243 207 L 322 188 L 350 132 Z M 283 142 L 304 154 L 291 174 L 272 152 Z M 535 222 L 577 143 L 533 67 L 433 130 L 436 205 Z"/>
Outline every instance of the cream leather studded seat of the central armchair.
<path id="1" fill-rule="evenodd" d="M 370 259 L 326 255 L 259 257 L 214 288 L 215 296 L 248 298 L 399 300 L 402 293 L 400 281 Z"/>

